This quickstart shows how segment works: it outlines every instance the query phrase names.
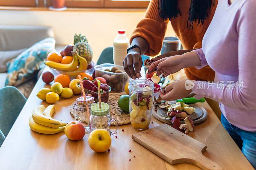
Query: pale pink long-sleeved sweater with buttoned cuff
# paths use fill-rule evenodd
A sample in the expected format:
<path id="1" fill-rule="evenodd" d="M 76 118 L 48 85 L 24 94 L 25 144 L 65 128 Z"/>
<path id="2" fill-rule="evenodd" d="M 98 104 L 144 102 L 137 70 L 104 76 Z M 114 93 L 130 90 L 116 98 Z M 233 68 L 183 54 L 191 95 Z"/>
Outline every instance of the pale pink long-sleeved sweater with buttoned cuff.
<path id="1" fill-rule="evenodd" d="M 229 123 L 256 131 L 256 0 L 219 0 L 202 43 L 197 69 L 209 65 L 215 79 L 196 81 L 195 97 L 219 101 Z"/>

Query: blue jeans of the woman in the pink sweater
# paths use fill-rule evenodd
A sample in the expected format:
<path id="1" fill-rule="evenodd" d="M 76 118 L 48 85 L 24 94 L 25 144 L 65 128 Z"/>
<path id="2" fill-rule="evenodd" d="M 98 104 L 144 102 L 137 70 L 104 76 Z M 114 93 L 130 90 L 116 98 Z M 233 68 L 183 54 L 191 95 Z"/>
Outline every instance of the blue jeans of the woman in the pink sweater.
<path id="1" fill-rule="evenodd" d="M 244 156 L 249 160 L 254 169 L 256 169 L 256 132 L 237 128 L 230 124 L 223 114 L 221 114 L 221 123 L 236 142 L 237 146 L 242 150 Z"/>

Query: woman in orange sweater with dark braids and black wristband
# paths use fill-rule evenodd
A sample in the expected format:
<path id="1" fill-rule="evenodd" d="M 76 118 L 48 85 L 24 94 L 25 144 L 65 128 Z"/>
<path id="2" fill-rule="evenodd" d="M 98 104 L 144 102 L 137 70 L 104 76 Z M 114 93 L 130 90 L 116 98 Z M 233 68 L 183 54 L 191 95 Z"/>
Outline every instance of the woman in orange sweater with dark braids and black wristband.
<path id="1" fill-rule="evenodd" d="M 123 62 L 126 73 L 133 79 L 138 78 L 143 64 L 141 55 L 155 56 L 160 52 L 169 20 L 185 50 L 168 52 L 153 60 L 202 48 L 204 33 L 212 21 L 217 3 L 218 0 L 151 0 L 145 18 L 132 33 L 131 48 L 127 49 Z M 189 79 L 214 79 L 214 71 L 209 66 L 200 70 L 186 68 L 185 73 Z"/>

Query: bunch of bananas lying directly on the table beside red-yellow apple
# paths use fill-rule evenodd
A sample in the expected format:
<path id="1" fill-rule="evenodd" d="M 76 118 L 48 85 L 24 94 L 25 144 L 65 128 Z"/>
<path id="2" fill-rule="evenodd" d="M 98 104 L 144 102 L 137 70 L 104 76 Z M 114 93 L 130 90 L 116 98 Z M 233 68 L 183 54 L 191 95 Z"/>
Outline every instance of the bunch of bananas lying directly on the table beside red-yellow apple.
<path id="1" fill-rule="evenodd" d="M 61 123 L 53 119 L 54 112 L 54 105 L 48 106 L 45 110 L 43 105 L 37 106 L 29 117 L 29 127 L 38 133 L 44 134 L 54 134 L 64 130 L 67 123 Z"/>

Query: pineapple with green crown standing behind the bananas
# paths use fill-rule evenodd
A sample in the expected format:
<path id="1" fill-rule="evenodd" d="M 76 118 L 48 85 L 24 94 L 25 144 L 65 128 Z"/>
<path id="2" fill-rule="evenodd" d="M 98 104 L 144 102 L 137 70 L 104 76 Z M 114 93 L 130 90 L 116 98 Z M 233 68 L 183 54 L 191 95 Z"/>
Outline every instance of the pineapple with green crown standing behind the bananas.
<path id="1" fill-rule="evenodd" d="M 82 34 L 74 35 L 74 48 L 78 55 L 87 60 L 88 65 L 92 62 L 92 48 L 88 44 L 88 40 Z"/>

